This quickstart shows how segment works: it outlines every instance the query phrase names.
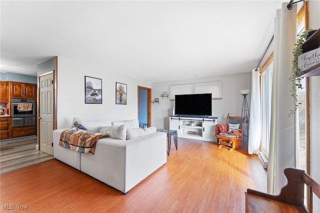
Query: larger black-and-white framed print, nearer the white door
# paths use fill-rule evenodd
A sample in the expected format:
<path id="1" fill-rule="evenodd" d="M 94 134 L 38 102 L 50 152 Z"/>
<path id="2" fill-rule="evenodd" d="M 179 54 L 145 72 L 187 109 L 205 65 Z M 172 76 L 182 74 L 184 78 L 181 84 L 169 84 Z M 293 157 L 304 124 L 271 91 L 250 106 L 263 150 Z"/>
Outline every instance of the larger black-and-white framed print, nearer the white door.
<path id="1" fill-rule="evenodd" d="M 102 103 L 102 79 L 84 76 L 85 103 Z"/>

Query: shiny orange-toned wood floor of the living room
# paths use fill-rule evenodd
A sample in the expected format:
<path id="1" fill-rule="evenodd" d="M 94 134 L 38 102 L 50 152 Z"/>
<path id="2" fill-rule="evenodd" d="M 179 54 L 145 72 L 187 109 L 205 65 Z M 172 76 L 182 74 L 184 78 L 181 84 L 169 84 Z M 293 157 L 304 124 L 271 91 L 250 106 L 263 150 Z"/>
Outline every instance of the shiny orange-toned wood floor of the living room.
<path id="1" fill-rule="evenodd" d="M 246 188 L 266 191 L 266 170 L 246 150 L 179 138 L 166 164 L 126 195 L 53 159 L 1 174 L 0 211 L 244 212 Z"/>

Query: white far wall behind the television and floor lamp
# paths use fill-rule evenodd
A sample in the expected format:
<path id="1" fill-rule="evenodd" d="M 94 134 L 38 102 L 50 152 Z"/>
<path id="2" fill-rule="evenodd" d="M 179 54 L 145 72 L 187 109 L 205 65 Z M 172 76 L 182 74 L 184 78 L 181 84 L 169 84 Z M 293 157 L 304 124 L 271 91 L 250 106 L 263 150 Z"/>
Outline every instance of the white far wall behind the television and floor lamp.
<path id="1" fill-rule="evenodd" d="M 152 100 L 159 98 L 159 104 L 152 105 L 152 125 L 156 128 L 169 128 L 168 116 L 172 115 L 174 101 L 160 95 L 164 91 L 169 92 L 170 85 L 212 81 L 222 81 L 222 99 L 212 100 L 212 116 L 218 117 L 217 123 L 225 123 L 227 113 L 241 115 L 243 96 L 239 90 L 251 88 L 251 72 L 152 83 Z M 250 104 L 250 94 L 247 101 Z"/>

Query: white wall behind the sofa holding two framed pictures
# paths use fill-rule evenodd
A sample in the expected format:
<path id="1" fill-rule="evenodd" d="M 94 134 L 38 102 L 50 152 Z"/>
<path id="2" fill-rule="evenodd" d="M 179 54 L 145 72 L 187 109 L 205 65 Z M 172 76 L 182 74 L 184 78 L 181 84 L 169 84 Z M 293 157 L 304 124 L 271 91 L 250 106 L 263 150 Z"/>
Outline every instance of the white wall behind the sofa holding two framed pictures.
<path id="1" fill-rule="evenodd" d="M 84 103 L 84 76 L 102 79 L 102 104 Z M 115 104 L 115 82 L 127 84 L 127 104 Z M 58 57 L 57 68 L 57 128 L 70 127 L 72 118 L 84 120 L 137 118 L 137 86 L 151 84 L 124 76 L 114 70 L 104 70 Z"/>

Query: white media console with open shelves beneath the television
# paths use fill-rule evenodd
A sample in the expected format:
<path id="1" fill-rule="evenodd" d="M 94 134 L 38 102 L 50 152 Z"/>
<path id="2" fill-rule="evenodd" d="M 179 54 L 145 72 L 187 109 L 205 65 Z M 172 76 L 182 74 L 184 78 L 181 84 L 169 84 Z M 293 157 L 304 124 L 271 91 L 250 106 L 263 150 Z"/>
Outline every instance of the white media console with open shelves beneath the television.
<path id="1" fill-rule="evenodd" d="M 170 130 L 177 130 L 178 137 L 216 142 L 215 124 L 218 117 L 213 116 L 169 116 Z"/>

